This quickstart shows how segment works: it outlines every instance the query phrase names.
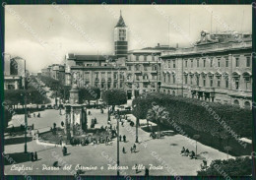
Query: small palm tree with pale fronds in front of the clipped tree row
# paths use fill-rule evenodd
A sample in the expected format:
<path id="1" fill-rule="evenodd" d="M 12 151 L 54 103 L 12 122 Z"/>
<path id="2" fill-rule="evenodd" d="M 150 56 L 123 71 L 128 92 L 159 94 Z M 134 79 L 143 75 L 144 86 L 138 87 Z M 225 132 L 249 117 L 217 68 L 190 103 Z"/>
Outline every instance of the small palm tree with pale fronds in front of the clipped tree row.
<path id="1" fill-rule="evenodd" d="M 149 109 L 147 113 L 147 120 L 155 121 L 158 123 L 158 133 L 160 138 L 160 123 L 163 123 L 168 117 L 168 112 L 165 110 L 164 107 L 160 105 L 154 105 L 152 109 Z"/>

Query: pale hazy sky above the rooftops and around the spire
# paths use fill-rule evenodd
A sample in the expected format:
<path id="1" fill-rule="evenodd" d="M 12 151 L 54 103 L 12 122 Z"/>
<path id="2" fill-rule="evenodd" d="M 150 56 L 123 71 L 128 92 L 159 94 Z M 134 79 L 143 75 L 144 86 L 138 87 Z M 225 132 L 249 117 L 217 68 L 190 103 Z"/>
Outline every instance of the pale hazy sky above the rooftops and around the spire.
<path id="1" fill-rule="evenodd" d="M 113 54 L 120 11 L 128 50 L 191 46 L 201 30 L 252 31 L 250 5 L 7 5 L 5 53 L 26 59 L 30 72 L 63 64 L 67 53 Z"/>

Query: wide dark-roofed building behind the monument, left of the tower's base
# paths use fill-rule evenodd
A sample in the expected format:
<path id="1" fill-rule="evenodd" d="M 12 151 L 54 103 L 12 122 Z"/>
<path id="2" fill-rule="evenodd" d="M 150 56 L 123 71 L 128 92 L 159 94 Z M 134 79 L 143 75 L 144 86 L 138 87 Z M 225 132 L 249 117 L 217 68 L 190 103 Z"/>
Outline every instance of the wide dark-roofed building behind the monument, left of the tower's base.
<path id="1" fill-rule="evenodd" d="M 66 86 L 96 87 L 100 90 L 124 89 L 124 59 L 110 62 L 115 56 L 66 55 Z"/>

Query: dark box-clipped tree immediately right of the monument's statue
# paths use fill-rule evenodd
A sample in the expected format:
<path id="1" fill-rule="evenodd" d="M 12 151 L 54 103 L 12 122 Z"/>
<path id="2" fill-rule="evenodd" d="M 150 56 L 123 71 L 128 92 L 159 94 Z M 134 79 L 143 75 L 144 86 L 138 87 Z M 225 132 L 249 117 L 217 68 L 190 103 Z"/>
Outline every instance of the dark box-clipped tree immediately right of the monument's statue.
<path id="1" fill-rule="evenodd" d="M 81 88 L 79 91 L 80 101 L 87 100 L 90 105 L 90 100 L 96 100 L 100 97 L 100 90 L 95 87 Z"/>

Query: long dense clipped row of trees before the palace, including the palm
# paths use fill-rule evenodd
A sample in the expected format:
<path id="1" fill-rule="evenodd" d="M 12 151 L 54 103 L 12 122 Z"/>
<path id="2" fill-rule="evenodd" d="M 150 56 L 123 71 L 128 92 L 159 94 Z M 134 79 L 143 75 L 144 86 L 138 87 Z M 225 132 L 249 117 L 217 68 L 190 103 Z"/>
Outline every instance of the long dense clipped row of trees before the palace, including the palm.
<path id="1" fill-rule="evenodd" d="M 219 150 L 233 149 L 232 153 L 237 155 L 247 154 L 249 150 L 249 147 L 244 150 L 237 141 L 242 137 L 252 138 L 252 114 L 248 109 L 164 93 L 141 95 L 133 100 L 133 107 L 132 113 L 137 119 L 156 122 L 159 130 L 160 125 L 175 130 L 172 126 L 175 123 L 191 138 L 199 140 L 204 137 L 204 140 L 199 140 L 201 143 Z"/>

